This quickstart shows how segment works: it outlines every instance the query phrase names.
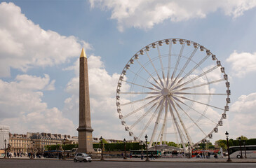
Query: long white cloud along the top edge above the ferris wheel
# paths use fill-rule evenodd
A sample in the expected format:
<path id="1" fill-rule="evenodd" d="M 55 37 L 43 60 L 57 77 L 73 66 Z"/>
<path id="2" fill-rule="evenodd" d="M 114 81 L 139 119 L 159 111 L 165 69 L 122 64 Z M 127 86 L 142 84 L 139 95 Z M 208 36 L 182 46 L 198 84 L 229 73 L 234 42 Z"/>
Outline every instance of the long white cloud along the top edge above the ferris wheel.
<path id="1" fill-rule="evenodd" d="M 119 31 L 126 27 L 151 29 L 164 20 L 180 22 L 194 18 L 206 18 L 206 15 L 218 9 L 225 15 L 237 18 L 244 11 L 256 6 L 255 0 L 90 0 L 92 8 L 111 10 L 111 19 L 117 20 Z"/>

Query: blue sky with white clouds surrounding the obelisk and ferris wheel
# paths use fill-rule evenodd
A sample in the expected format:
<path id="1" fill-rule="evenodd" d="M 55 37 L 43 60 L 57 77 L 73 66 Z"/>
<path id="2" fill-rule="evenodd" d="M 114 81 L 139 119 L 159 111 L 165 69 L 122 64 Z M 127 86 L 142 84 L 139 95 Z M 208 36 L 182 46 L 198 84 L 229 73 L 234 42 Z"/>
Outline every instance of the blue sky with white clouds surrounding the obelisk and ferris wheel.
<path id="1" fill-rule="evenodd" d="M 229 76 L 227 119 L 211 141 L 226 131 L 255 138 L 255 7 L 255 0 L 0 1 L 0 125 L 77 136 L 85 48 L 93 137 L 133 139 L 116 112 L 124 66 L 154 41 L 184 38 L 213 52 Z"/>

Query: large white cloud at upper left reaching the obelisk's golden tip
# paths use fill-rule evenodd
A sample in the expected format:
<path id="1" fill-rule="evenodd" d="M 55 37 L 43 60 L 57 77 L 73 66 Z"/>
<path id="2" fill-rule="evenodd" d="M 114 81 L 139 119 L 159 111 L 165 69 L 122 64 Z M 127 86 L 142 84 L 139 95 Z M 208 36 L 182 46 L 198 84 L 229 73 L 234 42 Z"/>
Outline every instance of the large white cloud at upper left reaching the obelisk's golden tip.
<path id="1" fill-rule="evenodd" d="M 14 3 L 0 3 L 0 76 L 10 69 L 27 71 L 33 67 L 54 66 L 80 54 L 90 45 L 74 36 L 61 36 L 41 29 L 27 19 Z"/>

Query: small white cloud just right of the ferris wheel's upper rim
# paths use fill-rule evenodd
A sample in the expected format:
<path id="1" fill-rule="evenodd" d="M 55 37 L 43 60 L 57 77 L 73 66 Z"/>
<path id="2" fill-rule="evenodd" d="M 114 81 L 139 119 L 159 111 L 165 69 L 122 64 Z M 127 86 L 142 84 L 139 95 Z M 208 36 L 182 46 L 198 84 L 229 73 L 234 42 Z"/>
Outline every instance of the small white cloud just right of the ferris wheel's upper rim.
<path id="1" fill-rule="evenodd" d="M 247 73 L 256 71 L 256 52 L 241 52 L 236 50 L 227 58 L 231 63 L 231 69 L 234 76 L 242 78 Z"/>

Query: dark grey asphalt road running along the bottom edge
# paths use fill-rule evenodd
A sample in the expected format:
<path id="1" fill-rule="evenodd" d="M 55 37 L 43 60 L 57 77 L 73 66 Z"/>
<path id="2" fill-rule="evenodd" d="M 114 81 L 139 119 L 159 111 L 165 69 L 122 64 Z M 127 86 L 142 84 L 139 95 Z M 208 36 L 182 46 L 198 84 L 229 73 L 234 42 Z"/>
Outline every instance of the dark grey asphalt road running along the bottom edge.
<path id="1" fill-rule="evenodd" d="M 256 163 L 227 163 L 227 162 L 112 162 L 112 161 L 93 161 L 93 162 L 73 162 L 72 160 L 0 160 L 0 167 L 256 167 Z"/>

